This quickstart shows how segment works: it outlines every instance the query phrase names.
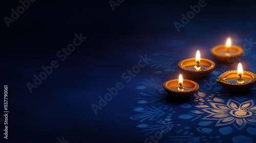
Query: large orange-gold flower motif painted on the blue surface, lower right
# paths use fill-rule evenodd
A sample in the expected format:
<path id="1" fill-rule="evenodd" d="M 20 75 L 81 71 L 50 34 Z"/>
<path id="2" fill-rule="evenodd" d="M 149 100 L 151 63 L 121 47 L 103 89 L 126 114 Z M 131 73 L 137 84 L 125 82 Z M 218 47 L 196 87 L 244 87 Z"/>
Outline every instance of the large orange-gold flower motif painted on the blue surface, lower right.
<path id="1" fill-rule="evenodd" d="M 239 103 L 229 100 L 227 104 L 210 103 L 213 108 L 202 109 L 210 115 L 204 117 L 205 120 L 218 120 L 216 126 L 232 124 L 239 130 L 245 125 L 256 125 L 256 106 L 252 100 Z"/>

